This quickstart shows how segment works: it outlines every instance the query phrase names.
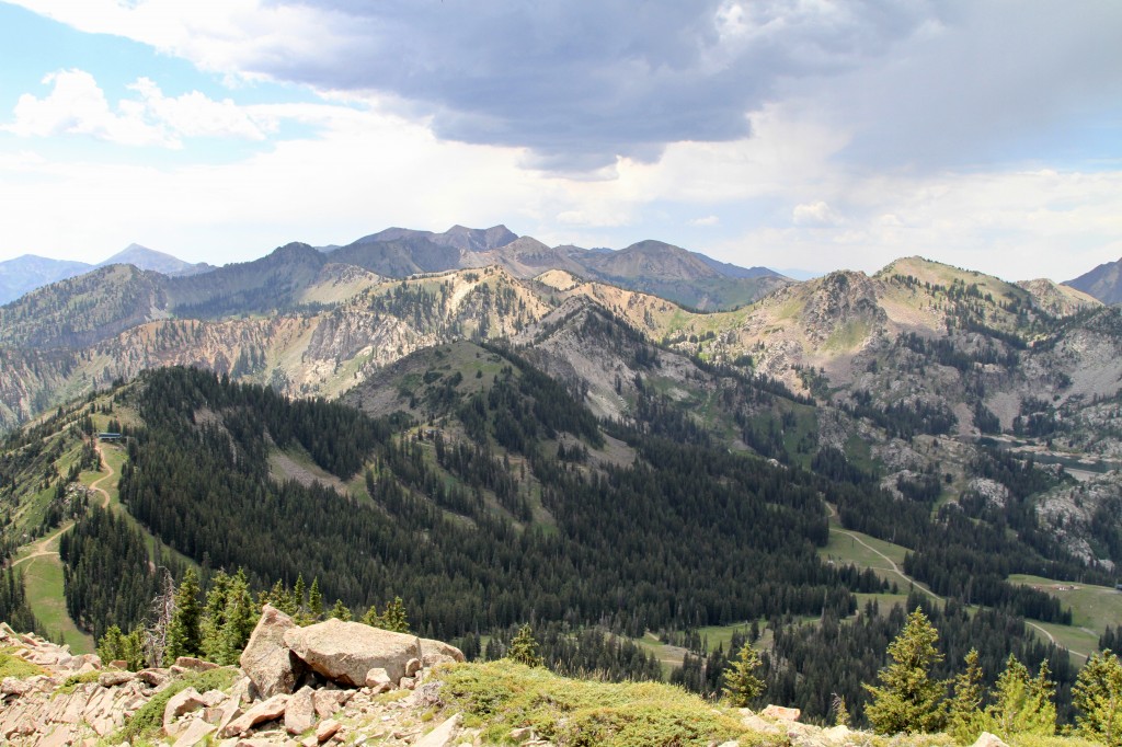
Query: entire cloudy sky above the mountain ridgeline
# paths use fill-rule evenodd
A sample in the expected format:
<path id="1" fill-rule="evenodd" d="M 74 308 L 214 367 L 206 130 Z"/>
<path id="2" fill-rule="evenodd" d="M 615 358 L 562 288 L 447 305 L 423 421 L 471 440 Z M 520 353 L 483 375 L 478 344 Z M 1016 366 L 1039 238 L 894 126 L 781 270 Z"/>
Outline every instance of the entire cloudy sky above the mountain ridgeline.
<path id="1" fill-rule="evenodd" d="M 0 0 L 0 260 L 498 223 L 745 267 L 1122 257 L 1118 0 Z"/>

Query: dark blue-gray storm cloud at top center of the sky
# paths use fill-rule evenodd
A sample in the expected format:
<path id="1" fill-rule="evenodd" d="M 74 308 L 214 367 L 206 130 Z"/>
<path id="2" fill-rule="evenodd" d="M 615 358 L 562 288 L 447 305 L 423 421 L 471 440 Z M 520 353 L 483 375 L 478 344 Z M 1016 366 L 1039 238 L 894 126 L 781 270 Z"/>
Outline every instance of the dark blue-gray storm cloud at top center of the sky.
<path id="1" fill-rule="evenodd" d="M 745 137 L 785 82 L 867 65 L 939 15 L 892 0 L 304 4 L 330 12 L 330 48 L 278 50 L 256 72 L 389 93 L 439 137 L 526 147 L 561 170 Z"/>

